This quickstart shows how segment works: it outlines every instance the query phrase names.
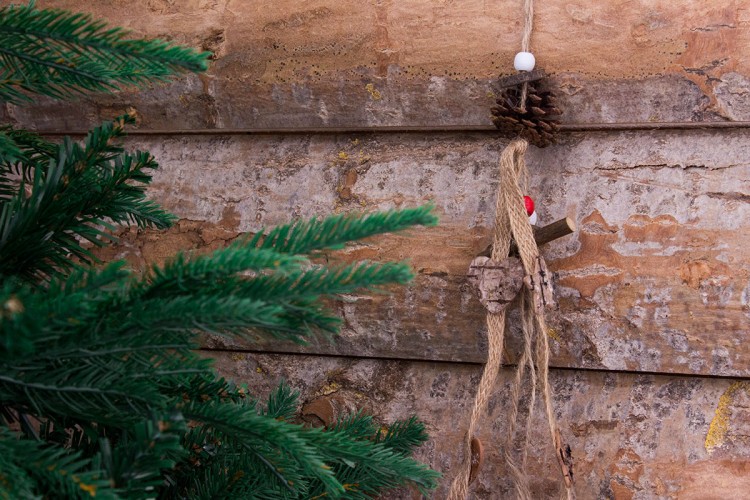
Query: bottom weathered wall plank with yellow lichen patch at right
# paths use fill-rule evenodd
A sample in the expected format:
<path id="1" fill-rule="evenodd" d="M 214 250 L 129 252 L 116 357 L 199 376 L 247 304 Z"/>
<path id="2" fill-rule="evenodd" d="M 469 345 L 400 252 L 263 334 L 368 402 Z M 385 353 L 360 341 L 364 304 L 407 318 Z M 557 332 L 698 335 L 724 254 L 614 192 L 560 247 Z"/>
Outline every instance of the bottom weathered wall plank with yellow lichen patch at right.
<path id="1" fill-rule="evenodd" d="M 304 407 L 331 402 L 335 415 L 364 408 L 378 422 L 420 415 L 429 442 L 421 460 L 446 476 L 460 456 L 480 367 L 454 363 L 213 353 L 222 375 L 268 394 L 282 378 Z M 487 459 L 472 487 L 481 499 L 514 498 L 503 453 L 510 371 L 503 371 L 479 437 Z M 750 490 L 750 385 L 731 380 L 553 370 L 554 409 L 575 465 L 577 498 L 734 499 Z M 714 411 L 715 408 L 719 410 Z M 543 412 L 538 412 L 543 413 Z M 548 427 L 532 422 L 534 498 L 560 498 Z M 311 420 L 314 422 L 314 419 Z M 392 498 L 413 498 L 408 492 Z"/>

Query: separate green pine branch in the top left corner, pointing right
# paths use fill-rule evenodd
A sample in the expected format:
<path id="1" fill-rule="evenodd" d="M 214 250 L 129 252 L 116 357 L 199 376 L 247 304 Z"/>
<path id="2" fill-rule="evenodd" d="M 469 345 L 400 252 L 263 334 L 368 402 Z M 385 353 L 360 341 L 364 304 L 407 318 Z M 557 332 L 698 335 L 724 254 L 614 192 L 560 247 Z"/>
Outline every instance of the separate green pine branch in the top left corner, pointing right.
<path id="1" fill-rule="evenodd" d="M 29 5 L 0 8 L 0 100 L 29 93 L 63 99 L 84 92 L 142 87 L 208 67 L 208 52 L 161 40 L 130 39 L 90 15 Z"/>

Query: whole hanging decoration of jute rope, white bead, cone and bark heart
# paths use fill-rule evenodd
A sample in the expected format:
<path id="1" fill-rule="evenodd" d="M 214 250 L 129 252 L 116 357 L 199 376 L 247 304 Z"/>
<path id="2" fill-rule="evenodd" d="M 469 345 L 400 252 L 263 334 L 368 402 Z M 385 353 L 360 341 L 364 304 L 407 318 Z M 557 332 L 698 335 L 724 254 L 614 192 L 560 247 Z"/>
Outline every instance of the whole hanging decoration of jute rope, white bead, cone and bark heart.
<path id="1" fill-rule="evenodd" d="M 519 70 L 531 71 L 534 56 L 528 51 L 533 20 L 532 0 L 525 0 L 526 22 L 522 43 L 522 52 L 516 56 L 515 66 Z M 534 99 L 529 95 L 536 94 L 536 88 L 530 90 L 528 79 L 521 84 L 520 96 L 523 106 Z M 545 102 L 544 98 L 538 104 Z M 547 103 L 551 102 L 549 99 Z M 554 101 L 552 101 L 554 102 Z M 540 110 L 544 111 L 543 108 Z M 524 110 L 524 113 L 526 111 Z M 531 111 L 534 113 L 534 111 Z M 558 113 L 559 114 L 559 113 Z M 538 116 L 547 116 L 537 112 Z M 476 436 L 480 420 L 484 415 L 487 402 L 494 392 L 500 367 L 502 365 L 503 346 L 506 328 L 506 312 L 511 304 L 520 307 L 521 329 L 523 331 L 523 349 L 517 361 L 515 377 L 511 385 L 511 408 L 509 410 L 508 434 L 504 445 L 504 456 L 507 469 L 513 477 L 518 498 L 531 500 L 529 478 L 526 475 L 526 457 L 530 424 L 534 415 L 537 391 L 542 395 L 550 440 L 556 450 L 557 460 L 565 484 L 568 499 L 573 498 L 573 464 L 570 448 L 563 443 L 554 411 L 552 409 L 552 390 L 548 381 L 549 367 L 549 330 L 545 321 L 545 309 L 555 308 L 554 290 L 551 273 L 539 253 L 537 242 L 542 239 L 540 233 L 547 237 L 570 234 L 574 225 L 569 219 L 557 221 L 546 228 L 535 231 L 529 220 L 529 208 L 533 212 L 533 203 L 524 196 L 528 186 L 528 172 L 525 154 L 529 144 L 528 138 L 536 138 L 530 131 L 539 136 L 540 145 L 547 145 L 554 136 L 542 135 L 545 130 L 540 121 L 522 123 L 523 129 L 516 129 L 521 136 L 513 140 L 500 156 L 500 180 L 498 182 L 495 207 L 495 234 L 489 256 L 475 258 L 468 272 L 468 280 L 477 288 L 478 296 L 487 309 L 487 363 L 477 386 L 476 398 L 471 409 L 469 428 L 464 442 L 464 461 L 460 464 L 458 474 L 451 484 L 448 495 L 450 500 L 464 500 L 469 493 L 472 481 L 477 477 L 483 462 L 484 446 Z M 535 124 L 536 123 L 536 124 Z M 531 141 L 533 142 L 533 141 Z M 517 255 L 511 256 L 511 253 Z M 519 433 L 519 408 L 522 394 L 528 392 L 529 407 L 521 423 Z M 516 452 L 520 434 L 522 447 Z"/>

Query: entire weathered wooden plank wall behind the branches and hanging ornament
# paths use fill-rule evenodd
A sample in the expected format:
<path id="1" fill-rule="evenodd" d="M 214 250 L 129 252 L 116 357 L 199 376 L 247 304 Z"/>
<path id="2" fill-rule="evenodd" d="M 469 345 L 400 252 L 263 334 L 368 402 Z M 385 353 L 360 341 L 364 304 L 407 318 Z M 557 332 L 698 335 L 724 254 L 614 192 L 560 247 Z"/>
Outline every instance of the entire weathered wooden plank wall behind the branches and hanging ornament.
<path id="1" fill-rule="evenodd" d="M 420 457 L 444 473 L 444 497 L 485 359 L 484 311 L 464 275 L 491 237 L 507 139 L 489 107 L 512 70 L 522 2 L 39 4 L 216 52 L 207 75 L 149 92 L 0 109 L 49 133 L 137 111 L 131 144 L 161 162 L 152 196 L 181 220 L 166 233 L 124 231 L 107 257 L 142 268 L 293 217 L 435 203 L 438 227 L 330 256 L 410 259 L 418 271 L 391 295 L 341 304 L 336 344 L 210 338 L 206 349 L 261 393 L 284 377 L 306 404 L 327 398 L 384 422 L 418 414 L 432 435 Z M 568 216 L 579 227 L 544 249 L 560 284 L 555 411 L 578 497 L 740 498 L 750 486 L 750 9 L 549 0 L 536 11 L 532 50 L 568 129 L 558 145 L 530 148 L 530 194 L 541 223 Z M 513 328 L 509 363 L 517 344 Z M 481 430 L 491 445 L 476 498 L 512 496 L 501 458 L 511 377 Z M 552 498 L 559 474 L 535 425 L 534 491 Z"/>

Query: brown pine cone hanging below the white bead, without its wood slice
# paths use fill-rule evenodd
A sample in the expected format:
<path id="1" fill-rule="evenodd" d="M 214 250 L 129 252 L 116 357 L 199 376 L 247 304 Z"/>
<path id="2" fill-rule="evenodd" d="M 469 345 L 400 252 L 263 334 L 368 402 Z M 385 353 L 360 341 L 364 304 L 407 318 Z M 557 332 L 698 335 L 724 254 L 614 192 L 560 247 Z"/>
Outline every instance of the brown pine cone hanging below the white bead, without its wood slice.
<path id="1" fill-rule="evenodd" d="M 492 108 L 492 122 L 504 133 L 518 135 L 543 148 L 557 142 L 560 128 L 555 94 L 542 81 L 528 83 L 526 110 L 521 109 L 521 86 L 504 89 Z"/>

